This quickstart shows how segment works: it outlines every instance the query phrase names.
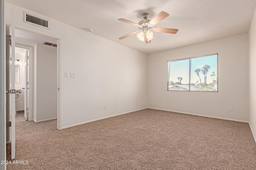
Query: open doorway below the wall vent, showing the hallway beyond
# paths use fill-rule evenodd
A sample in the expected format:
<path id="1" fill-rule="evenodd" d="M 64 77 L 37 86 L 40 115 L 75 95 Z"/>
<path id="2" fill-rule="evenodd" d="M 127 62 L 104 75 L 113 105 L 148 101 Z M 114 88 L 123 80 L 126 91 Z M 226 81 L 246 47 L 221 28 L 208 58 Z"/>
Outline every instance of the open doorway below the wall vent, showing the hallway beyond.
<path id="1" fill-rule="evenodd" d="M 28 31 L 15 29 L 15 41 L 17 51 L 21 54 L 15 55 L 19 60 L 20 83 L 16 84 L 16 89 L 23 92 L 16 98 L 16 110 L 18 118 L 22 121 L 47 121 L 57 119 L 57 96 L 58 96 L 58 60 L 57 60 L 57 39 L 31 33 Z M 25 58 L 28 50 L 26 76 L 28 81 L 24 80 L 25 76 Z M 15 50 L 16 51 L 16 50 Z M 25 53 L 24 53 L 25 52 Z M 22 60 L 23 59 L 23 60 Z M 16 61 L 17 62 L 17 61 Z M 24 75 L 22 77 L 22 75 Z M 27 89 L 27 106 L 24 95 L 26 83 Z M 23 105 L 24 109 L 21 109 Z M 27 113 L 26 113 L 27 111 Z M 22 114 L 24 113 L 24 115 Z M 24 117 L 24 119 L 23 119 Z"/>

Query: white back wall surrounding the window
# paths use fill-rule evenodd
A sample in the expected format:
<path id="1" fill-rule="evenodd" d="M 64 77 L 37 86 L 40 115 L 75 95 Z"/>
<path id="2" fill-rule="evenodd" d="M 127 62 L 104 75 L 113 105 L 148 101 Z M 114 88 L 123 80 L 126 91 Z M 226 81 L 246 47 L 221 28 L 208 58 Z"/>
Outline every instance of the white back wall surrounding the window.
<path id="1" fill-rule="evenodd" d="M 168 60 L 213 53 L 219 54 L 218 92 L 167 91 Z M 148 107 L 248 121 L 248 34 L 149 55 Z"/>

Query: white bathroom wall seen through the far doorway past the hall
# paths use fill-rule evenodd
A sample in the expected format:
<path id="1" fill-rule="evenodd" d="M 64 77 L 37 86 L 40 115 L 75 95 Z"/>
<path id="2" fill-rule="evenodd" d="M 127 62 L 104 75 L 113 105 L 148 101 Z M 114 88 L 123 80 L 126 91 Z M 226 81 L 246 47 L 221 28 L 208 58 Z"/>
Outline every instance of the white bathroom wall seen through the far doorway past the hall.
<path id="1" fill-rule="evenodd" d="M 21 111 L 24 110 L 24 90 L 22 88 L 25 88 L 25 54 L 15 55 L 15 59 L 20 60 L 20 83 L 15 83 L 15 89 L 22 90 L 22 92 L 18 94 L 19 97 L 15 99 L 15 107 L 16 111 Z M 17 61 L 15 62 L 17 63 Z"/>

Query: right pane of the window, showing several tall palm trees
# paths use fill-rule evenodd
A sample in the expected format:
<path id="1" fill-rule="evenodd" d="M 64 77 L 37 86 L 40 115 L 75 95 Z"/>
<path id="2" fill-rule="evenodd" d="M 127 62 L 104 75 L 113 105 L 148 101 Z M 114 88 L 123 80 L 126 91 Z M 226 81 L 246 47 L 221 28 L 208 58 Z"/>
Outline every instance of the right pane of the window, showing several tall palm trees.
<path id="1" fill-rule="evenodd" d="M 218 91 L 217 60 L 217 55 L 191 59 L 191 91 Z"/>

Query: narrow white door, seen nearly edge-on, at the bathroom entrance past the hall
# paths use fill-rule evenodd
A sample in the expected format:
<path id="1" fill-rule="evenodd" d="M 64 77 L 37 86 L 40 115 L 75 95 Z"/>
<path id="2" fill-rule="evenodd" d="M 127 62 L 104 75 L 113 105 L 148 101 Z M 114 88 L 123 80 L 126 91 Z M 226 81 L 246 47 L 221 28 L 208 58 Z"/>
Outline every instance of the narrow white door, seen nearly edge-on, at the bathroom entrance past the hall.
<path id="1" fill-rule="evenodd" d="M 28 50 L 25 53 L 24 117 L 28 120 Z"/>

